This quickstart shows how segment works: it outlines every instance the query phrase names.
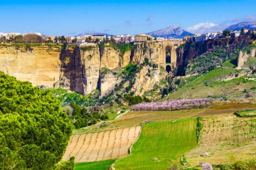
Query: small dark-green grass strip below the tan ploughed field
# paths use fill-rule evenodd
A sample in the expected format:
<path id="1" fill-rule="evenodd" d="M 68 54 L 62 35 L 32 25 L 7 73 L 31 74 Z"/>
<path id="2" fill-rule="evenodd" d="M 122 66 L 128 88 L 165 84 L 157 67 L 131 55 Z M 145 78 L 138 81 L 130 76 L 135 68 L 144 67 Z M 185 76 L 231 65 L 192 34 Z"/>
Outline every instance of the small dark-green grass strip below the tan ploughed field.
<path id="1" fill-rule="evenodd" d="M 75 170 L 108 170 L 115 160 L 98 161 L 92 163 L 75 163 Z"/>

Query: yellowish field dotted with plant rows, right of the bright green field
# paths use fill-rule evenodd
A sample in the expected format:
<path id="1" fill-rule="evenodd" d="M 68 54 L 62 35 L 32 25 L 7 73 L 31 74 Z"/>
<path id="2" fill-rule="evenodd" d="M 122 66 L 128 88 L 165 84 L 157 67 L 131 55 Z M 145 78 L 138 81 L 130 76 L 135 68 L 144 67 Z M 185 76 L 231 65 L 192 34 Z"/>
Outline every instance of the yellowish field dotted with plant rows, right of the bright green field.
<path id="1" fill-rule="evenodd" d="M 201 124 L 199 145 L 186 155 L 192 166 L 256 159 L 256 118 L 226 114 L 203 118 Z M 201 157 L 204 153 L 212 156 Z"/>

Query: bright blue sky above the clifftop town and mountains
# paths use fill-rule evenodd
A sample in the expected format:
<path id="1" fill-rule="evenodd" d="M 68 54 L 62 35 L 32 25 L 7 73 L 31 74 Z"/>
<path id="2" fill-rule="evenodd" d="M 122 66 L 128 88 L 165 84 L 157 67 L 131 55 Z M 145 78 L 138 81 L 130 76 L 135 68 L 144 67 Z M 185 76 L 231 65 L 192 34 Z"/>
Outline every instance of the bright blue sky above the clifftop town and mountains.
<path id="1" fill-rule="evenodd" d="M 142 34 L 181 26 L 192 33 L 256 22 L 255 0 L 0 0 L 0 32 Z"/>

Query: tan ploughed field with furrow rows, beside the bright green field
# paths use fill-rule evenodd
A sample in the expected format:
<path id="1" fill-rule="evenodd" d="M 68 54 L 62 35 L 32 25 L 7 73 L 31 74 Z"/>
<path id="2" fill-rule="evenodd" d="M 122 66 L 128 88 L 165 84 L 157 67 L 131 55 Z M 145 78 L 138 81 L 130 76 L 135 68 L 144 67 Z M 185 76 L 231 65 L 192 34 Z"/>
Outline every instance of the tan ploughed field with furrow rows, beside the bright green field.
<path id="1" fill-rule="evenodd" d="M 75 163 L 126 157 L 139 136 L 141 126 L 71 136 L 63 160 L 75 157 Z"/>

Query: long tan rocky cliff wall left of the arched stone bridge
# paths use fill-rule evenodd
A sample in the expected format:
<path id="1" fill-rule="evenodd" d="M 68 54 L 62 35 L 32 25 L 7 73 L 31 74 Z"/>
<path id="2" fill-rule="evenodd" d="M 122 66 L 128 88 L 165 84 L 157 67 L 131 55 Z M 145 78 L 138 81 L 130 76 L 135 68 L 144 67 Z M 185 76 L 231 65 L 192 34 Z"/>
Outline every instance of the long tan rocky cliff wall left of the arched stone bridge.
<path id="1" fill-rule="evenodd" d="M 37 44 L 28 48 L 8 44 L 0 46 L 0 70 L 33 85 L 62 87 L 84 95 L 99 89 L 104 96 L 121 83 L 121 68 L 129 62 L 142 63 L 148 58 L 152 65 L 160 66 L 164 60 L 162 56 L 162 47 L 154 42 L 138 44 L 125 52 L 111 46 L 79 48 Z M 164 77 L 159 76 L 159 68 L 155 67 L 150 74 L 150 68 L 141 69 L 133 91 L 142 95 L 152 89 L 154 83 Z"/>

